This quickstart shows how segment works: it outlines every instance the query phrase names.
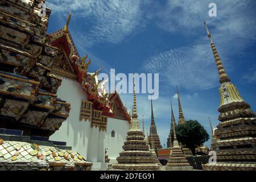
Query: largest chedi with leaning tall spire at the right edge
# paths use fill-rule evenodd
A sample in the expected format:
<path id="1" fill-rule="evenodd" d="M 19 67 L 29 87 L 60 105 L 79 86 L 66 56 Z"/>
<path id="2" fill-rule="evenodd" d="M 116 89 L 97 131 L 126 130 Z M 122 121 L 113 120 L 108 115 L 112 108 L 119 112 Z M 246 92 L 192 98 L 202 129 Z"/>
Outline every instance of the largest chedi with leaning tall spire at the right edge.
<path id="1" fill-rule="evenodd" d="M 256 119 L 236 86 L 226 74 L 218 56 L 210 32 L 205 24 L 210 46 L 220 77 L 220 115 L 221 122 L 215 130 L 217 163 L 204 165 L 205 170 L 256 170 Z"/>

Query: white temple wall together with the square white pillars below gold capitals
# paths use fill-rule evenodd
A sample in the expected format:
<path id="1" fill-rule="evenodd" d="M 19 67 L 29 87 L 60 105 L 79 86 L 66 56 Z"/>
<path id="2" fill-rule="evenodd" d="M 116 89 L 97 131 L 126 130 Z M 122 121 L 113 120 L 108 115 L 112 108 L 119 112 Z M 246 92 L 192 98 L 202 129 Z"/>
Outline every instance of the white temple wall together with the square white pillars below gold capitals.
<path id="1" fill-rule="evenodd" d="M 87 100 L 87 94 L 79 82 L 63 78 L 57 91 L 57 97 L 71 104 L 69 117 L 60 129 L 49 139 L 67 142 L 72 150 L 79 152 L 86 160 L 93 163 L 92 170 L 105 170 L 104 137 L 105 131 L 90 127 L 91 122 L 79 121 L 81 101 Z"/>

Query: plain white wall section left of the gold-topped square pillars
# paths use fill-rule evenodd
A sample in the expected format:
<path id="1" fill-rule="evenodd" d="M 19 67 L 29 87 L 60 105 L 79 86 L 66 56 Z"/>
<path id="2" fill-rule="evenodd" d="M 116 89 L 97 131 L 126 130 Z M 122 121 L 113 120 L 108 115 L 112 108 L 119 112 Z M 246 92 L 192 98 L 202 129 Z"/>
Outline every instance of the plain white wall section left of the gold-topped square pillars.
<path id="1" fill-rule="evenodd" d="M 90 138 L 90 122 L 79 121 L 79 117 L 81 101 L 87 100 L 87 95 L 82 90 L 79 82 L 63 78 L 57 91 L 57 97 L 71 103 L 71 111 L 67 120 L 60 126 L 60 129 L 49 139 L 67 142 L 67 146 L 71 146 L 72 150 L 79 152 L 80 155 L 86 158 Z"/>

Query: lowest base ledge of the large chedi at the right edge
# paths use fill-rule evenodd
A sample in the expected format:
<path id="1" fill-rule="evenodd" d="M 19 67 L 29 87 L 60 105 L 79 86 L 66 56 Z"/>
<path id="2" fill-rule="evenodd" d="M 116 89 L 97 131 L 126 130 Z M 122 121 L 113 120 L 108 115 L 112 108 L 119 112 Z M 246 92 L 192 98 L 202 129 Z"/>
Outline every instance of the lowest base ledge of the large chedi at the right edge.
<path id="1" fill-rule="evenodd" d="M 205 171 L 256 171 L 256 163 L 216 163 L 204 164 Z"/>

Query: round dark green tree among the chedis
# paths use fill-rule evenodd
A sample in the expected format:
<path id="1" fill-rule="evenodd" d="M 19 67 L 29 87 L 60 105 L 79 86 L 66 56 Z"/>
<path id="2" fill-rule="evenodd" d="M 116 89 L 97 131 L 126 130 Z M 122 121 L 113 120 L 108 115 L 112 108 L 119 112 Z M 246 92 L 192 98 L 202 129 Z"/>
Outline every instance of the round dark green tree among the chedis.
<path id="1" fill-rule="evenodd" d="M 209 134 L 198 121 L 189 120 L 176 127 L 177 140 L 192 150 L 195 155 L 196 146 L 200 146 L 209 139 Z"/>

